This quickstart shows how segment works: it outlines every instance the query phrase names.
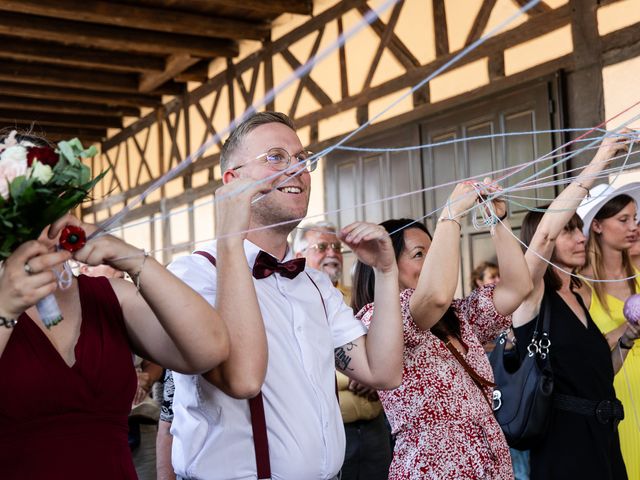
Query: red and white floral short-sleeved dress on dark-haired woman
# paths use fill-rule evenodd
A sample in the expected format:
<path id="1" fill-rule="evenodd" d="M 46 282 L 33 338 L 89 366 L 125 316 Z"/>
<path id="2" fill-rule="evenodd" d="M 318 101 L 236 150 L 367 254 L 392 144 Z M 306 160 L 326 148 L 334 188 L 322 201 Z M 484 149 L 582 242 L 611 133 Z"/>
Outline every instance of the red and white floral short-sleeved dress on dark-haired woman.
<path id="1" fill-rule="evenodd" d="M 483 378 L 493 372 L 482 344 L 510 324 L 493 304 L 494 286 L 454 300 L 460 319 L 465 360 Z M 513 479 L 509 447 L 483 393 L 444 343 L 420 330 L 409 311 L 412 289 L 400 294 L 404 322 L 404 371 L 395 390 L 380 391 L 380 400 L 396 435 L 389 479 Z M 369 325 L 374 304 L 358 317 Z"/>

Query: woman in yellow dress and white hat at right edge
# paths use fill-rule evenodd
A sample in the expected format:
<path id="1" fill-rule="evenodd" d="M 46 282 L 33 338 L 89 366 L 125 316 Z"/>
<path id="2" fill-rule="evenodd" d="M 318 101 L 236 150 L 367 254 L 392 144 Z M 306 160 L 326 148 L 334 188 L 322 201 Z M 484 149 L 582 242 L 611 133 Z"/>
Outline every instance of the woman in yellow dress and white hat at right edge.
<path id="1" fill-rule="evenodd" d="M 588 237 L 589 263 L 582 273 L 586 279 L 620 281 L 587 281 L 582 293 L 591 298 L 589 313 L 611 349 L 626 354 L 614 380 L 616 396 L 624 405 L 624 420 L 618 426 L 620 446 L 629 478 L 640 479 L 640 342 L 624 335 L 627 322 L 622 313 L 624 301 L 640 292 L 640 278 L 636 277 L 640 271 L 629 255 L 638 235 L 640 183 L 618 189 L 597 185 L 590 194 L 578 209 Z"/>

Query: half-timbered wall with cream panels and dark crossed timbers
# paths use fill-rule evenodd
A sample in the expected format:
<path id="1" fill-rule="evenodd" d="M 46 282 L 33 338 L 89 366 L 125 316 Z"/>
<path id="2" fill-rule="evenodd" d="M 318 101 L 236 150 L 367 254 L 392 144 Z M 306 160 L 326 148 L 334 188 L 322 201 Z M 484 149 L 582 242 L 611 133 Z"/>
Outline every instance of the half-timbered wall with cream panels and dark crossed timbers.
<path id="1" fill-rule="evenodd" d="M 265 91 L 332 44 L 340 33 L 349 31 L 370 8 L 382 3 L 316 1 L 312 17 L 284 15 L 276 20 L 271 41 L 241 44 L 239 59 L 214 62 L 210 67 L 212 77 L 205 84 L 169 100 L 127 128 L 114 131 L 103 142 L 102 155 L 94 159 L 94 168 L 110 166 L 111 171 L 82 214 L 99 221 L 119 211 L 154 179 L 262 98 Z M 266 108 L 291 115 L 300 128 L 303 143 L 312 150 L 323 148 L 373 118 L 524 3 L 400 1 Z M 593 126 L 604 119 L 608 90 L 603 84 L 610 76 L 607 72 L 612 71 L 608 69 L 640 55 L 639 12 L 640 0 L 543 1 L 462 58 L 453 69 L 377 119 L 356 141 L 374 139 L 386 146 L 415 143 L 432 135 L 431 125 L 437 119 L 453 118 L 456 112 L 462 117 L 459 115 L 449 125 L 455 127 L 457 135 L 464 136 L 460 130 L 465 123 L 463 112 L 544 78 L 557 79 L 554 95 L 563 112 L 559 126 Z M 625 95 L 609 95 L 607 104 L 617 105 L 612 98 Z M 628 99 L 629 103 L 633 100 Z M 404 131 L 406 125 L 414 133 L 401 138 L 381 133 L 392 127 Z M 138 225 L 121 233 L 140 246 L 164 249 L 159 256 L 164 261 L 174 253 L 190 250 L 196 241 L 213 237 L 210 201 L 220 181 L 218 151 L 219 145 L 212 146 L 182 176 L 133 209 L 127 223 Z M 335 201 L 330 193 L 335 187 L 333 182 L 339 180 L 330 173 L 335 168 L 334 158 L 322 162 L 314 173 L 311 214 L 323 212 Z M 391 157 L 385 161 L 406 163 L 406 159 Z M 426 157 L 416 162 L 421 172 L 428 165 L 436 168 L 434 178 L 439 178 L 441 167 L 437 164 L 429 164 Z M 411 162 L 408 165 L 407 168 L 415 167 Z M 398 181 L 398 188 L 415 186 Z M 428 201 L 423 198 L 414 203 L 407 215 L 422 214 Z M 172 212 L 171 217 L 148 223 Z M 395 214 L 393 210 L 388 213 Z"/>

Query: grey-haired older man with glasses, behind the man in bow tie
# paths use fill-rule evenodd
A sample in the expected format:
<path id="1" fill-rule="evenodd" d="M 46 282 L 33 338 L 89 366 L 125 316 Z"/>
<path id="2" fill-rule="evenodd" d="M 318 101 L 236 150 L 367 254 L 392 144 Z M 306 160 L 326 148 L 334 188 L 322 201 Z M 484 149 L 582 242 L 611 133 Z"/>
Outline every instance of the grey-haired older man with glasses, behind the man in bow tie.
<path id="1" fill-rule="evenodd" d="M 342 283 L 342 243 L 330 222 L 298 227 L 293 242 L 297 258 L 326 273 L 350 303 L 351 291 Z M 375 389 L 336 372 L 340 413 L 347 439 L 342 480 L 386 480 L 391 463 L 391 438 Z"/>

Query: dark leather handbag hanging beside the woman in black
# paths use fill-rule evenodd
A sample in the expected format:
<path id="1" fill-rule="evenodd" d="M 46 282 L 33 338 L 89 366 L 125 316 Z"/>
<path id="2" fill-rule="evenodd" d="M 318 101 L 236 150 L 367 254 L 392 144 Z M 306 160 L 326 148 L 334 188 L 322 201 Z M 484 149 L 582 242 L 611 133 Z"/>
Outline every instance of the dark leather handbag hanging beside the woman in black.
<path id="1" fill-rule="evenodd" d="M 496 383 L 493 411 L 507 443 L 518 450 L 535 446 L 549 426 L 553 372 L 549 361 L 551 312 L 548 303 L 545 291 L 527 353 L 522 360 L 516 359 L 515 369 L 513 359 L 505 364 L 506 333 L 498 338 L 489 356 Z"/>

